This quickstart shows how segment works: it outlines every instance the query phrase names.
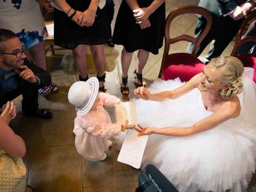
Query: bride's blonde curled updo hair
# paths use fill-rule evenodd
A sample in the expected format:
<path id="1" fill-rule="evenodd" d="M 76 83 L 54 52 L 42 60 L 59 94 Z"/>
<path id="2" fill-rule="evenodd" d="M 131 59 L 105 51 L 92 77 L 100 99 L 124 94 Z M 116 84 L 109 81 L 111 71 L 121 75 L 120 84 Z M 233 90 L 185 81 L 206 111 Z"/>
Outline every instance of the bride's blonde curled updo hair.
<path id="1" fill-rule="evenodd" d="M 219 90 L 222 98 L 229 99 L 233 95 L 242 92 L 243 83 L 241 76 L 244 72 L 244 65 L 238 58 L 233 56 L 221 56 L 213 58 L 209 64 L 216 68 L 220 74 L 220 84 L 222 86 L 230 84 L 228 88 Z"/>

